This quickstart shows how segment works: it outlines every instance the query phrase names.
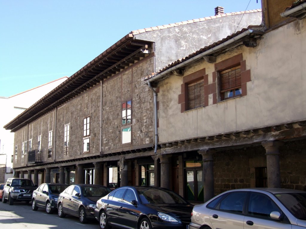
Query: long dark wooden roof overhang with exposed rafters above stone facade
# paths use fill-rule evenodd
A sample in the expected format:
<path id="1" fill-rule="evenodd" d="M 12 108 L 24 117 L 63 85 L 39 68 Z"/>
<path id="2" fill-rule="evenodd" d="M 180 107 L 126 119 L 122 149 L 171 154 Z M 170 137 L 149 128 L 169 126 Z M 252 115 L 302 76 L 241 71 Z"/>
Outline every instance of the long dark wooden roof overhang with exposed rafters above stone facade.
<path id="1" fill-rule="evenodd" d="M 6 124 L 4 128 L 15 132 L 99 84 L 100 81 L 112 77 L 140 58 L 149 55 L 151 43 L 135 40 L 132 34 L 126 35 Z"/>

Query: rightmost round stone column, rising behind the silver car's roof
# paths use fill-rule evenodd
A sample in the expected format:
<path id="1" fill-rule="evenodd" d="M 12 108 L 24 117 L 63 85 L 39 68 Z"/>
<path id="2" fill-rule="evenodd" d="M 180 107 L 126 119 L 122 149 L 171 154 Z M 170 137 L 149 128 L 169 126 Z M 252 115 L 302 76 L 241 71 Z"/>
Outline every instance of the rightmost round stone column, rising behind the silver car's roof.
<path id="1" fill-rule="evenodd" d="M 268 188 L 280 188 L 281 176 L 279 166 L 279 147 L 283 142 L 266 141 L 262 143 L 266 149 Z"/>

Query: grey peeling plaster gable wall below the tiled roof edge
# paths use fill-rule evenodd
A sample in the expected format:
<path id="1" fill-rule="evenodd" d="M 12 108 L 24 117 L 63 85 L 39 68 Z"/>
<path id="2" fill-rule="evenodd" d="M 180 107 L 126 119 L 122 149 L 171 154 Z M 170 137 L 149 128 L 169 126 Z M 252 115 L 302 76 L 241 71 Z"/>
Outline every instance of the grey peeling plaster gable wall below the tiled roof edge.
<path id="1" fill-rule="evenodd" d="M 260 25 L 261 21 L 261 12 L 237 14 L 148 31 L 134 37 L 155 42 L 155 71 L 158 72 L 166 65 L 217 42 L 235 31 L 240 31 L 249 25 Z"/>

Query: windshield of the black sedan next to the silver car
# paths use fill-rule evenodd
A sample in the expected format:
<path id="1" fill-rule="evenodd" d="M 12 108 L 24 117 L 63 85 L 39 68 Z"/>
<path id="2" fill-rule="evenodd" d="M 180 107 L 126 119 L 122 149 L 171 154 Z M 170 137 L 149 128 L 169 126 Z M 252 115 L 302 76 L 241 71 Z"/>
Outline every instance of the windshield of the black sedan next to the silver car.
<path id="1" fill-rule="evenodd" d="M 144 204 L 186 204 L 178 194 L 157 188 L 139 189 L 138 194 Z"/>

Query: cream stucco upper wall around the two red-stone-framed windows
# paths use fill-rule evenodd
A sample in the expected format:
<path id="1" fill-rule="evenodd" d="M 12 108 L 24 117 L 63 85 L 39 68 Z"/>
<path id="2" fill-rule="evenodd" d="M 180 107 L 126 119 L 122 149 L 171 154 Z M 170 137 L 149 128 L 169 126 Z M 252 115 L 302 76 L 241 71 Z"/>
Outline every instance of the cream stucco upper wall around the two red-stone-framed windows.
<path id="1" fill-rule="evenodd" d="M 217 57 L 216 63 L 238 53 L 251 71 L 247 95 L 181 113 L 178 94 L 182 77 L 159 82 L 159 143 L 199 136 L 256 129 L 305 118 L 305 20 L 263 35 L 257 47 L 239 46 Z M 285 37 L 285 39 L 284 39 Z M 205 68 L 212 81 L 214 64 L 204 60 L 186 68 L 184 75 Z"/>

